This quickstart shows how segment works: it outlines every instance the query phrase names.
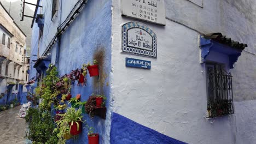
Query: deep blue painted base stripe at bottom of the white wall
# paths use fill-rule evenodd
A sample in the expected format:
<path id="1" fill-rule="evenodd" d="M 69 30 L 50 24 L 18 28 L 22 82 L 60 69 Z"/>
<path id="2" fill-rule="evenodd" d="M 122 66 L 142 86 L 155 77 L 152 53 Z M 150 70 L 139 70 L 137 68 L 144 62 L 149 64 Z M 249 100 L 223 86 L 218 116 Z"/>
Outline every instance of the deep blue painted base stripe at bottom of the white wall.
<path id="1" fill-rule="evenodd" d="M 147 128 L 129 118 L 113 113 L 110 143 L 112 144 L 184 144 L 153 129 Z"/>

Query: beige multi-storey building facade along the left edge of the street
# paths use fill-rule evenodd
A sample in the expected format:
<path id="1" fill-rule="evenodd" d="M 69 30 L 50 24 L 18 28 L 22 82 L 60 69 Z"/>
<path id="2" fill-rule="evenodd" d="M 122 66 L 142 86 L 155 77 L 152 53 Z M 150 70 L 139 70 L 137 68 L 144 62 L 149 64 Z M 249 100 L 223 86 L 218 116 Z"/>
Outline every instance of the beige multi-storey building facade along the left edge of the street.
<path id="1" fill-rule="evenodd" d="M 14 87 L 10 94 L 17 95 L 19 91 L 26 89 L 23 86 L 28 79 L 26 35 L 16 25 L 2 3 L 0 3 L 0 41 L 0 93 L 7 97 L 7 86 L 11 84 Z M 1 99 L 1 103 L 11 100 L 6 97 Z"/>

